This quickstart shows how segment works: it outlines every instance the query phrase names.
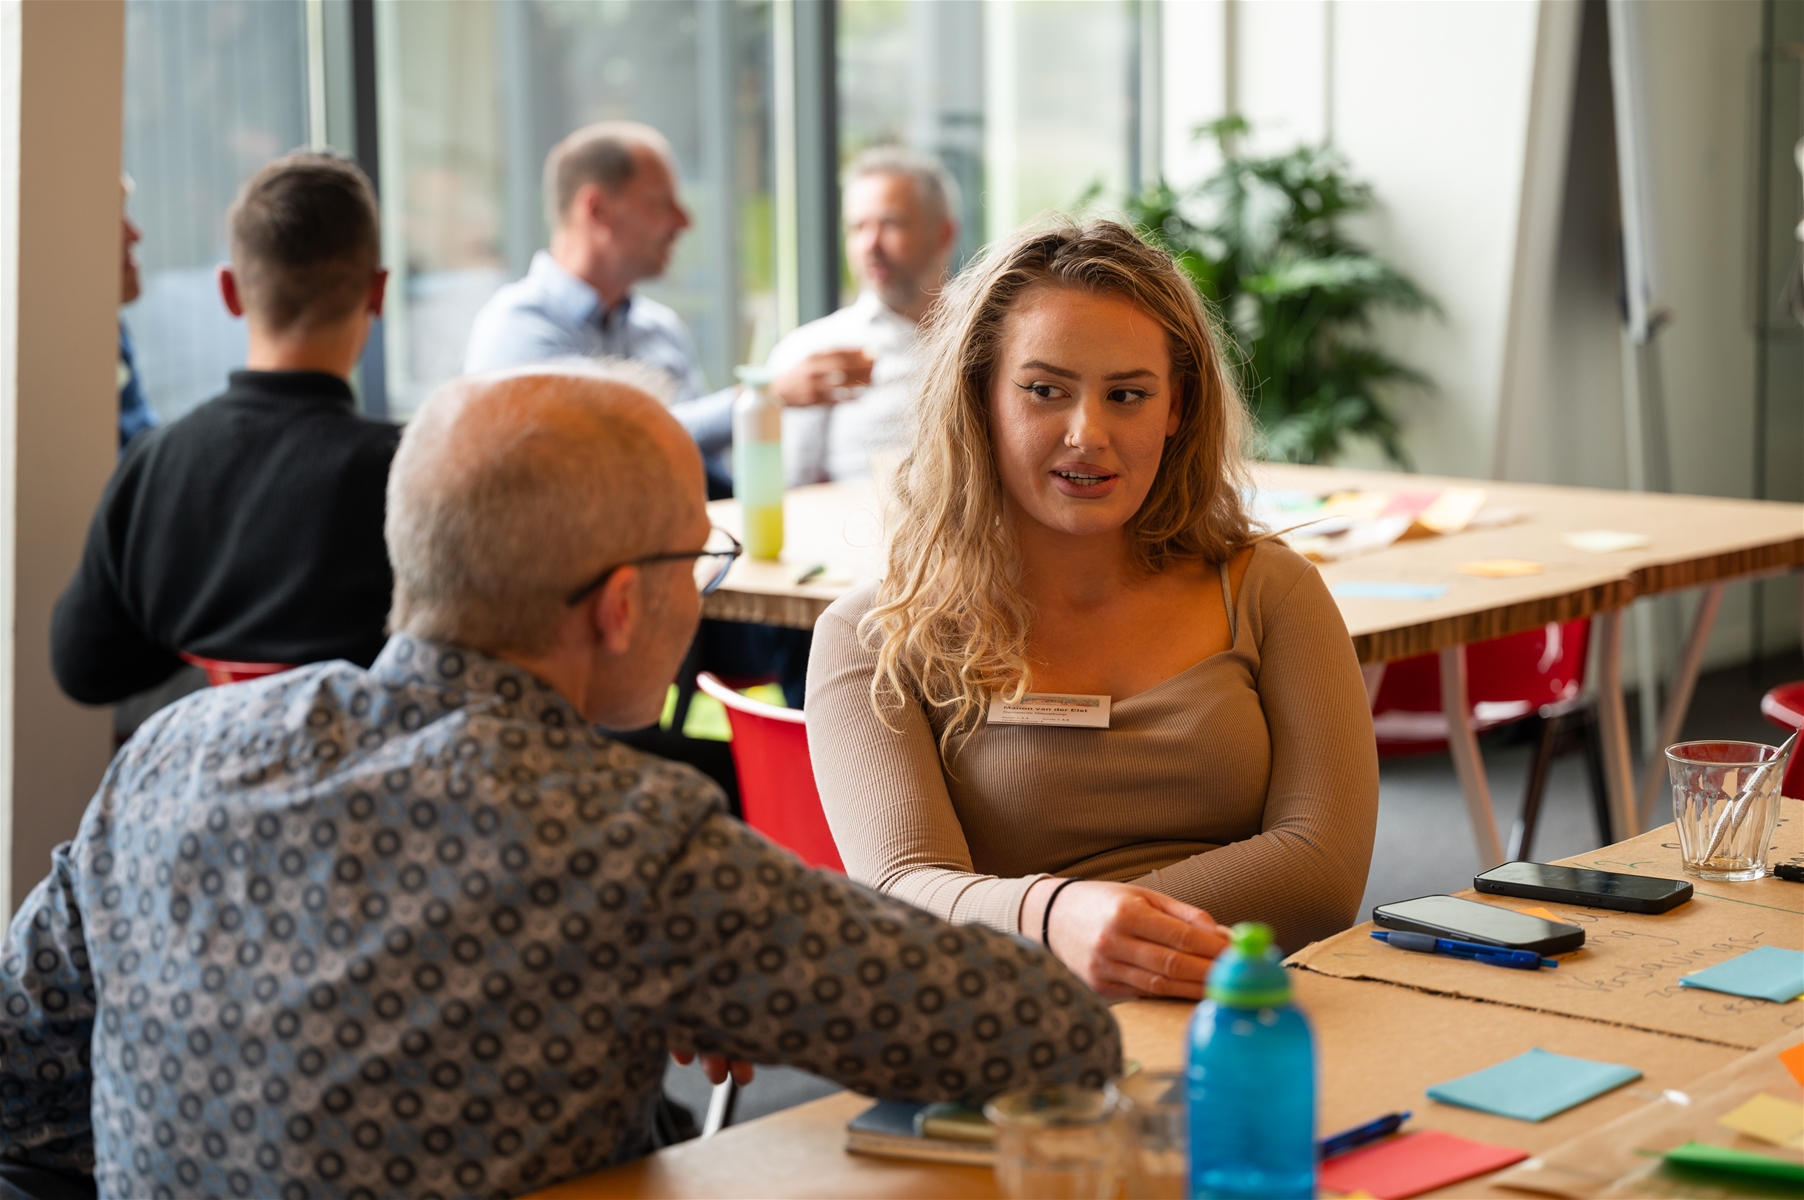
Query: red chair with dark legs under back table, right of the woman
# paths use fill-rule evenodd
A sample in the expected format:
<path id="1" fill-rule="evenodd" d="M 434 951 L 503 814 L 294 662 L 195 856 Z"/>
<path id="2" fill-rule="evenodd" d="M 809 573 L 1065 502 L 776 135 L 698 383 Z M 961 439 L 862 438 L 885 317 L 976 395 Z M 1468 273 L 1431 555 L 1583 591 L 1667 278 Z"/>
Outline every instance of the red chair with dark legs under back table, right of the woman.
<path id="1" fill-rule="evenodd" d="M 1589 644 L 1591 623 L 1584 619 L 1550 623 L 1541 630 L 1467 646 L 1467 695 L 1472 702 L 1474 733 L 1530 716 L 1542 720 L 1523 812 L 1510 834 L 1510 859 L 1528 857 L 1535 839 L 1535 821 L 1541 816 L 1541 798 L 1548 785 L 1548 769 L 1573 742 L 1582 743 L 1586 751 L 1600 845 L 1611 841 L 1609 792 L 1604 787 L 1597 715 L 1582 697 Z M 1420 655 L 1385 664 L 1371 713 L 1380 758 L 1447 749 L 1438 657 Z"/>

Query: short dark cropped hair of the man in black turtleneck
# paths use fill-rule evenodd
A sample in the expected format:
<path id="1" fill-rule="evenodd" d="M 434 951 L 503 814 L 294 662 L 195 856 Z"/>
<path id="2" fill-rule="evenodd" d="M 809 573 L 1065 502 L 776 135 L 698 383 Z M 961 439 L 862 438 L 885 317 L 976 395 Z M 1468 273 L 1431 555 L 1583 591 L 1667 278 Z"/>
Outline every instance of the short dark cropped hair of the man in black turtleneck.
<path id="1" fill-rule="evenodd" d="M 375 189 L 336 153 L 299 150 L 265 162 L 226 222 L 238 294 L 278 334 L 352 316 L 382 267 Z"/>

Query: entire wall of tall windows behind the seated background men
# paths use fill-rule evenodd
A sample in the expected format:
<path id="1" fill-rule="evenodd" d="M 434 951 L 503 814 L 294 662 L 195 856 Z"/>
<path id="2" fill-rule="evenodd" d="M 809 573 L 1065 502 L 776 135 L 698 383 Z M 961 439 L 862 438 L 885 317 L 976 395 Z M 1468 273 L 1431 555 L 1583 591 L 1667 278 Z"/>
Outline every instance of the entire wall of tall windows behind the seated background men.
<path id="1" fill-rule="evenodd" d="M 402 419 L 462 370 L 476 310 L 548 244 L 545 155 L 590 121 L 644 121 L 676 152 L 695 227 L 644 291 L 689 323 L 716 386 L 763 359 L 779 310 L 794 319 L 776 291 L 796 287 L 796 256 L 841 238 L 819 218 L 778 236 L 779 197 L 797 195 L 779 170 L 832 173 L 873 144 L 938 155 L 963 193 L 958 263 L 1091 188 L 1131 186 L 1149 0 L 826 2 L 130 0 L 124 166 L 146 292 L 128 323 L 152 404 L 175 417 L 242 365 L 244 327 L 213 285 L 224 213 L 262 162 L 308 143 L 375 141 L 359 157 L 379 166 L 393 278 L 364 370 L 384 383 L 372 408 Z M 823 16 L 832 38 L 797 32 Z M 368 87 L 343 83 L 363 79 L 357 54 Z M 821 128 L 810 114 L 776 128 L 779 69 L 837 79 L 824 153 L 797 146 Z"/>

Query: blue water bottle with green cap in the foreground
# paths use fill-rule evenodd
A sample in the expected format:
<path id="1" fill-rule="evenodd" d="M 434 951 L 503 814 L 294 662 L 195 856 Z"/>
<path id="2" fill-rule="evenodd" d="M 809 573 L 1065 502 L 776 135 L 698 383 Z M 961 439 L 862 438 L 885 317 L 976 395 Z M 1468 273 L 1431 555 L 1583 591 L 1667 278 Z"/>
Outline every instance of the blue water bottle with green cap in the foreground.
<path id="1" fill-rule="evenodd" d="M 1272 928 L 1234 926 L 1191 1018 L 1191 1198 L 1315 1196 L 1315 1038 Z"/>

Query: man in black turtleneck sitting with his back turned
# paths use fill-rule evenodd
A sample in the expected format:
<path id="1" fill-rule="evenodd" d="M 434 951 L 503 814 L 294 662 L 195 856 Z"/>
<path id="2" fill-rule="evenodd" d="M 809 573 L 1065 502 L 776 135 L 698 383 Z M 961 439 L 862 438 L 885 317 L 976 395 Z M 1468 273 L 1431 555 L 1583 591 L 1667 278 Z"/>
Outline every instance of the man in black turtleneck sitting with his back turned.
<path id="1" fill-rule="evenodd" d="M 227 220 L 220 296 L 245 318 L 245 370 L 135 438 L 106 484 L 51 623 L 56 680 L 85 704 L 161 684 L 180 653 L 368 666 L 386 639 L 400 429 L 359 417 L 348 383 L 388 283 L 370 180 L 292 153 Z"/>

